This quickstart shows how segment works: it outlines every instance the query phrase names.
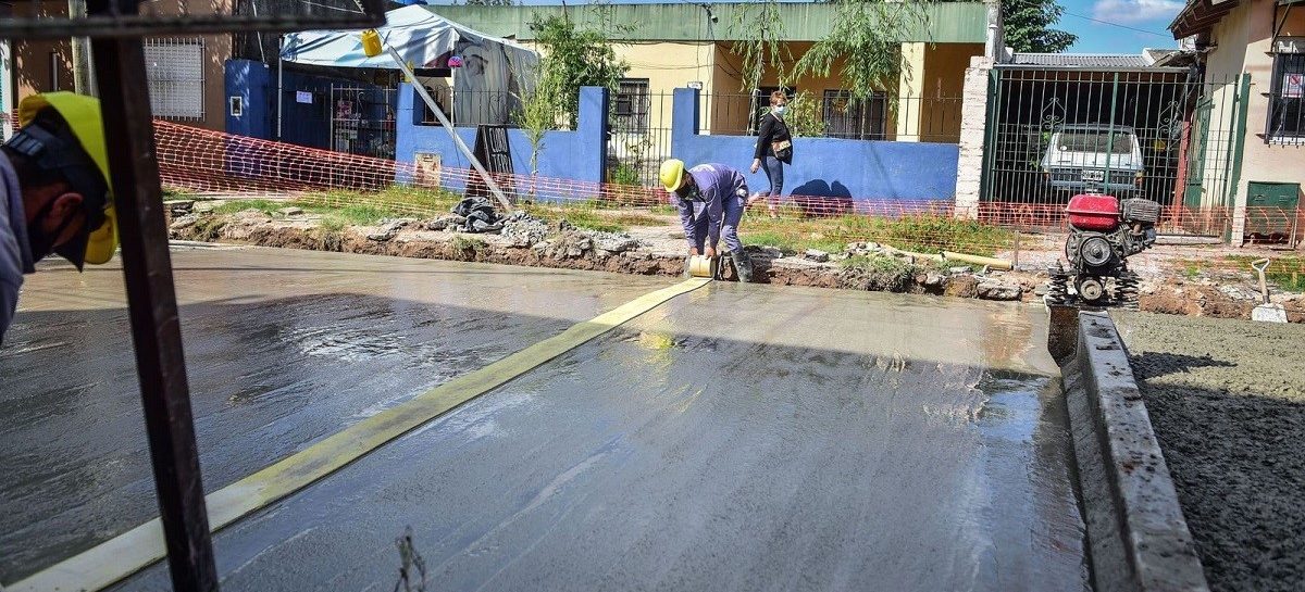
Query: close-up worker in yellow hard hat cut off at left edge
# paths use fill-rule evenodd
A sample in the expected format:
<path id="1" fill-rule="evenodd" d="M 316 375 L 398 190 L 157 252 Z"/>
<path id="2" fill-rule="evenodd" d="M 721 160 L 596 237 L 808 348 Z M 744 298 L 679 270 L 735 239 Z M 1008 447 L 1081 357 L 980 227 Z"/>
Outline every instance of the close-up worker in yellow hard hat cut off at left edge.
<path id="1" fill-rule="evenodd" d="M 81 270 L 117 248 L 99 100 L 33 95 L 18 104 L 18 125 L 0 146 L 0 343 L 37 261 L 57 253 Z"/>

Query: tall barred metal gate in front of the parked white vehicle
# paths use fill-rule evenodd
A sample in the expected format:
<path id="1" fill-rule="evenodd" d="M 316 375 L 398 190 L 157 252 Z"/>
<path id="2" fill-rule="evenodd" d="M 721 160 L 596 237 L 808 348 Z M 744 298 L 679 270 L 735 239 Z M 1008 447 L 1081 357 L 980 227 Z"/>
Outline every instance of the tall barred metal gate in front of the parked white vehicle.
<path id="1" fill-rule="evenodd" d="M 996 68 L 981 198 L 1053 219 L 1077 193 L 1144 197 L 1165 206 L 1169 229 L 1224 233 L 1242 82 L 1202 82 L 1178 68 Z"/>

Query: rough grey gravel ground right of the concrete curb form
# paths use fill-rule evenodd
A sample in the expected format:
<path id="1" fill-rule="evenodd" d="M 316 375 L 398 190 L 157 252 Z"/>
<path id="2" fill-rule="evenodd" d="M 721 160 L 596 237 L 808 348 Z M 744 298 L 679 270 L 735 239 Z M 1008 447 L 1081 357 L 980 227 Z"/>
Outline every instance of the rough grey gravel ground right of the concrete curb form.
<path id="1" fill-rule="evenodd" d="M 1215 591 L 1305 591 L 1305 326 L 1120 313 Z"/>

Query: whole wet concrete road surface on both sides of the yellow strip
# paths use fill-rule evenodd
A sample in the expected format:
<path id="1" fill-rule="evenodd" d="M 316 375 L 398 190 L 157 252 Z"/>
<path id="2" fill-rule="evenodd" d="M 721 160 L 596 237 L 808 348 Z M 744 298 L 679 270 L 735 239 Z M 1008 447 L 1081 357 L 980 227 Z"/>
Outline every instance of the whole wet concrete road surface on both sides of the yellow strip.
<path id="1" fill-rule="evenodd" d="M 175 257 L 193 266 L 177 276 L 210 490 L 356 409 L 666 284 L 324 253 Z M 59 501 L 10 518 L 10 548 L 43 552 L 5 554 L 7 574 L 153 505 L 121 287 L 89 296 L 76 288 L 93 276 L 38 278 L 44 297 L 29 301 L 43 304 L 25 305 L 21 353 L 0 365 L 35 372 L 57 355 L 94 372 L 21 376 L 43 386 L 3 399 L 33 424 L 0 433 L 4 454 L 39 443 L 5 463 L 46 471 L 4 486 Z M 1045 322 L 1024 305 L 718 283 L 221 531 L 223 589 L 389 591 L 411 527 L 428 589 L 1083 591 Z M 78 330 L 112 342 L 114 361 L 63 344 Z M 287 373 L 294 386 L 278 387 Z M 42 540 L 56 528 L 59 548 Z M 168 589 L 166 565 L 117 589 Z"/>

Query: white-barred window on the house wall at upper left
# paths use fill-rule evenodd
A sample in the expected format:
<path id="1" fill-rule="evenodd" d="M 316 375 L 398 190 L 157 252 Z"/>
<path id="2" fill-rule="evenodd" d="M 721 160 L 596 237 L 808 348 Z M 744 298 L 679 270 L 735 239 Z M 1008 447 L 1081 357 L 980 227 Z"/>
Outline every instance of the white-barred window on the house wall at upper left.
<path id="1" fill-rule="evenodd" d="M 204 38 L 146 39 L 145 72 L 155 116 L 204 120 Z"/>

